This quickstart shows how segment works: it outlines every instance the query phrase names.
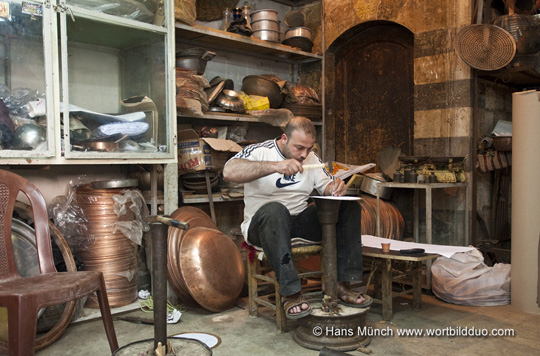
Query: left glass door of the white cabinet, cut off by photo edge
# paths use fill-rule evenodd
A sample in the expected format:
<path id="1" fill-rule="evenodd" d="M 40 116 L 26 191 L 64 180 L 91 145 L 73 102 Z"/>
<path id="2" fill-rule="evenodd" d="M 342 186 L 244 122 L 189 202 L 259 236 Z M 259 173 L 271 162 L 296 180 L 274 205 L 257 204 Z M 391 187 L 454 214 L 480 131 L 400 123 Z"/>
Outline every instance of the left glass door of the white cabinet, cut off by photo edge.
<path id="1" fill-rule="evenodd" d="M 0 1 L 0 156 L 54 155 L 50 8 Z"/>

